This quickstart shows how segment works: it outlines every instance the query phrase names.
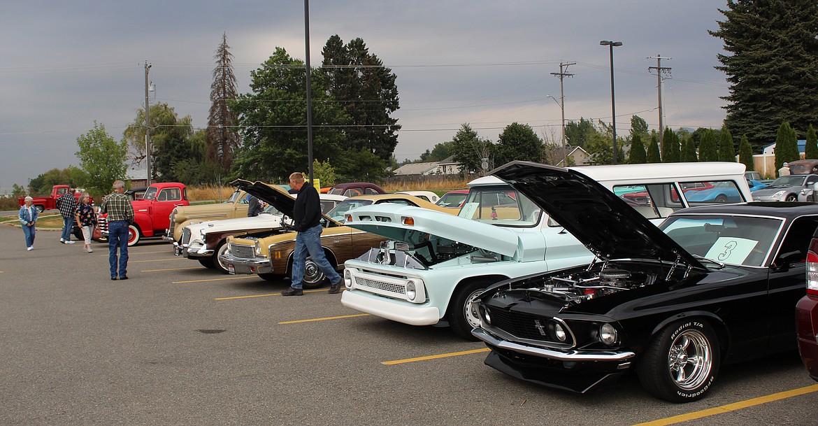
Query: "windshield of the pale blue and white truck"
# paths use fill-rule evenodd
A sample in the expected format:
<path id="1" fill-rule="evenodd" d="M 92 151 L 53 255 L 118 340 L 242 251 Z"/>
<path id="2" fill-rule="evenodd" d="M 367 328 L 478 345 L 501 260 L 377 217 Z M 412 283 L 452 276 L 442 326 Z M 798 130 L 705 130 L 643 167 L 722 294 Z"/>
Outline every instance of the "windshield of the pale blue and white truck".
<path id="1" fill-rule="evenodd" d="M 474 187 L 458 216 L 499 226 L 534 226 L 542 209 L 525 195 L 505 187 Z"/>

